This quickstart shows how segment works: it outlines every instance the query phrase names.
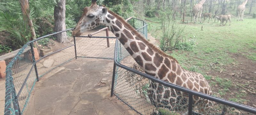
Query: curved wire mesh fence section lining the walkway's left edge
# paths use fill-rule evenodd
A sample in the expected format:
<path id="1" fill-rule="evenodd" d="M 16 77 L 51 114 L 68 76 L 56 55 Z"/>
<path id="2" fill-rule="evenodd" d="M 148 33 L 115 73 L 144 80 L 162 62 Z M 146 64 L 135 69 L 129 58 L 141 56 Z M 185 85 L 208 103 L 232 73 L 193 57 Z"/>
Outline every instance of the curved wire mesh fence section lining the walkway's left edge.
<path id="1" fill-rule="evenodd" d="M 61 31 L 66 32 L 72 29 Z M 40 77 L 75 58 L 74 44 L 61 44 L 49 34 L 25 44 L 6 67 L 5 115 L 20 115 Z M 38 47 L 34 47 L 38 43 Z"/>

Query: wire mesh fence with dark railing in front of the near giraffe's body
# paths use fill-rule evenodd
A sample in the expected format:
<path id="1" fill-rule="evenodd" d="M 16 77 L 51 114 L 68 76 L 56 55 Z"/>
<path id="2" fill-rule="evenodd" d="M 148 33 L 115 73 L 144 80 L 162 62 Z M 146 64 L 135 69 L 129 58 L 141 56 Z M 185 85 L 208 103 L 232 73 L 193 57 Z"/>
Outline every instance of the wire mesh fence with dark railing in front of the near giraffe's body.
<path id="1" fill-rule="evenodd" d="M 255 108 L 192 91 L 145 74 L 120 42 L 116 43 L 114 61 L 116 68 L 113 70 L 112 94 L 139 114 L 256 114 Z"/>

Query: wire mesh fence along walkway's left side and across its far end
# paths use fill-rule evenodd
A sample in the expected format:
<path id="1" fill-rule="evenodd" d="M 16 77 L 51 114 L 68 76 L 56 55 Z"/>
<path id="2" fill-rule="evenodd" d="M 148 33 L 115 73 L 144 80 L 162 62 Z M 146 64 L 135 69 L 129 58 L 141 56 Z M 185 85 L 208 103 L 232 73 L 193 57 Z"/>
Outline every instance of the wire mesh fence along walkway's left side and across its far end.
<path id="1" fill-rule="evenodd" d="M 147 36 L 147 24 L 133 19 L 138 31 Z M 143 27 L 138 25 L 142 24 Z M 134 26 L 135 26 L 134 25 Z M 140 25 L 141 26 L 141 25 Z M 143 29 L 143 30 L 142 30 Z M 6 67 L 5 115 L 21 115 L 26 110 L 36 81 L 77 57 L 113 59 L 116 37 L 84 36 L 59 43 L 55 35 L 70 34 L 67 29 L 45 35 L 25 44 Z M 106 35 L 107 36 L 107 35 Z M 37 47 L 34 47 L 39 44 Z M 128 55 L 127 55 L 128 56 Z"/>

